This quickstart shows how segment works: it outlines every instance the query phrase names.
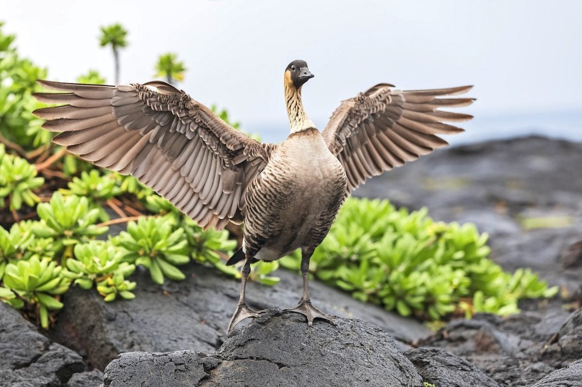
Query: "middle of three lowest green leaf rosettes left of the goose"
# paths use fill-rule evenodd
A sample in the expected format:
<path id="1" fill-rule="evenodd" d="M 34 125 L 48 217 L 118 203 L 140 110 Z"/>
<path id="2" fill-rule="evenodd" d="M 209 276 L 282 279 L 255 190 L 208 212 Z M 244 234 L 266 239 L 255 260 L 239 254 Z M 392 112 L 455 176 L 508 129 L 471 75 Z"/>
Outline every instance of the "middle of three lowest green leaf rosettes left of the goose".
<path id="1" fill-rule="evenodd" d="M 74 279 L 74 284 L 83 289 L 91 289 L 93 284 L 105 301 L 113 301 L 117 294 L 126 300 L 135 296 L 130 290 L 136 286 L 135 282 L 127 281 L 135 270 L 135 266 L 122 262 L 127 252 L 109 242 L 91 240 L 88 243 L 74 246 L 74 259 L 66 262 L 67 270 L 63 275 Z"/>

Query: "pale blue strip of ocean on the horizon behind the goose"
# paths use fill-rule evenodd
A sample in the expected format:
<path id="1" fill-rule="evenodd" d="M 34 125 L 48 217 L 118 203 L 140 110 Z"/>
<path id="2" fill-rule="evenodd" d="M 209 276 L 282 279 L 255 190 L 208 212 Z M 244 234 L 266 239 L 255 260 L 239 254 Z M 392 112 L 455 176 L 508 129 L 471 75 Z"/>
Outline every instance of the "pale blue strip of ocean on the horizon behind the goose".
<path id="1" fill-rule="evenodd" d="M 519 112 L 480 114 L 469 122 L 459 123 L 466 131 L 454 136 L 444 136 L 452 145 L 477 143 L 480 141 L 508 139 L 539 135 L 551 139 L 582 142 L 582 109 L 552 112 Z M 261 140 L 280 143 L 289 134 L 289 127 L 278 125 L 243 125 L 261 136 Z M 320 128 L 321 129 L 321 128 Z"/>

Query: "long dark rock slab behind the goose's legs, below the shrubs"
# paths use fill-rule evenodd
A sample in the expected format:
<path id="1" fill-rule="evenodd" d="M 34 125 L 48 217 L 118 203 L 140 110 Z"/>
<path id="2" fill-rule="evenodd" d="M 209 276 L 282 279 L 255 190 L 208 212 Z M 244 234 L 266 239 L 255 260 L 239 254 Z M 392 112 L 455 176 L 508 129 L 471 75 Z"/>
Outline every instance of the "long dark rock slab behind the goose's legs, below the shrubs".
<path id="1" fill-rule="evenodd" d="M 93 367 L 102 370 L 121 352 L 171 352 L 194 350 L 211 353 L 226 338 L 225 331 L 239 297 L 240 281 L 198 264 L 181 269 L 182 282 L 153 283 L 147 272 L 133 281 L 136 298 L 105 303 L 94 290 L 72 287 L 65 294 L 66 307 L 49 333 L 56 342 L 86 351 Z M 279 270 L 275 286 L 247 285 L 247 301 L 256 309 L 293 307 L 301 294 L 301 277 Z M 410 343 L 430 333 L 420 322 L 363 304 L 349 294 L 313 281 L 314 304 L 346 318 L 360 318 L 378 325 L 395 339 Z"/>

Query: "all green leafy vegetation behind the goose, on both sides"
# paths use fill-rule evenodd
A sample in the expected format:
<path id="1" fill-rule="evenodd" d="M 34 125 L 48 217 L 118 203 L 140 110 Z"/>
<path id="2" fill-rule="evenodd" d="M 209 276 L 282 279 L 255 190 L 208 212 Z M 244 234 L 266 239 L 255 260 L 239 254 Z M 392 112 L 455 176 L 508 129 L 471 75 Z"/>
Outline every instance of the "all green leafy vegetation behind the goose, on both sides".
<path id="1" fill-rule="evenodd" d="M 119 77 L 119 52 L 131 35 L 120 24 L 101 28 L 95 44 L 110 47 Z M 155 77 L 183 81 L 186 66 L 172 52 L 152 63 Z M 66 307 L 71 286 L 104 301 L 134 298 L 132 273 L 151 281 L 181 281 L 180 266 L 210 265 L 239 278 L 224 262 L 241 229 L 202 230 L 132 176 L 97 168 L 51 143 L 52 133 L 31 112 L 32 94 L 47 70 L 22 58 L 15 36 L 0 24 L 0 300 L 49 328 Z M 95 70 L 79 83 L 104 84 Z M 212 109 L 239 128 L 226 110 Z M 257 136 L 253 136 L 257 138 Z M 275 285 L 281 265 L 299 271 L 299 254 L 253 265 L 251 280 Z M 423 321 L 511 314 L 523 298 L 552 297 L 556 288 L 529 269 L 504 272 L 489 259 L 487 235 L 467 223 L 435 222 L 426 209 L 409 212 L 386 200 L 350 198 L 311 260 L 313 275 L 360 301 Z"/>

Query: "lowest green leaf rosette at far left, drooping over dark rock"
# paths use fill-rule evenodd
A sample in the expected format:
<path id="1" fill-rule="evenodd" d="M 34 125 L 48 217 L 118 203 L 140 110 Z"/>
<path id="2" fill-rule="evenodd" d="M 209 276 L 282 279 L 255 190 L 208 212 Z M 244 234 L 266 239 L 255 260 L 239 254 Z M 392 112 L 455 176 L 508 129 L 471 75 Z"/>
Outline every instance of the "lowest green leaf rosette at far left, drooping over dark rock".
<path id="1" fill-rule="evenodd" d="M 32 257 L 6 265 L 4 285 L 12 289 L 29 306 L 35 307 L 42 328 L 48 328 L 48 310 L 63 307 L 54 296 L 69 289 L 70 280 L 61 275 L 56 262 Z"/>

